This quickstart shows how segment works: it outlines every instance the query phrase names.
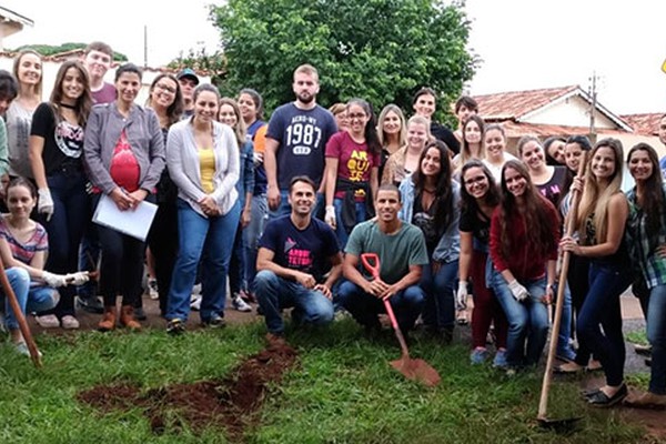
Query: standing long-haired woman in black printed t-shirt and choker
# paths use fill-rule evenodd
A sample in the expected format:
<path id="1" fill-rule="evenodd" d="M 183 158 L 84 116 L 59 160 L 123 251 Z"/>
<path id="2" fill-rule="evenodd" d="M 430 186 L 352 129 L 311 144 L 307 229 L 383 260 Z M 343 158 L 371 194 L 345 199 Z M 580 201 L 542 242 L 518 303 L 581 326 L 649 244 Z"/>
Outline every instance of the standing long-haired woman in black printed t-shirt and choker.
<path id="1" fill-rule="evenodd" d="M 54 273 L 77 269 L 88 223 L 83 132 L 91 107 L 88 72 L 70 60 L 58 70 L 50 100 L 32 115 L 29 159 L 39 193 L 37 211 L 51 240 L 47 269 Z M 74 295 L 73 286 L 62 289 L 54 314 L 38 316 L 38 322 L 44 327 L 78 329 Z"/>

